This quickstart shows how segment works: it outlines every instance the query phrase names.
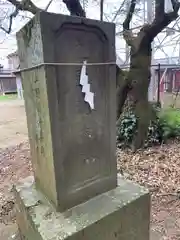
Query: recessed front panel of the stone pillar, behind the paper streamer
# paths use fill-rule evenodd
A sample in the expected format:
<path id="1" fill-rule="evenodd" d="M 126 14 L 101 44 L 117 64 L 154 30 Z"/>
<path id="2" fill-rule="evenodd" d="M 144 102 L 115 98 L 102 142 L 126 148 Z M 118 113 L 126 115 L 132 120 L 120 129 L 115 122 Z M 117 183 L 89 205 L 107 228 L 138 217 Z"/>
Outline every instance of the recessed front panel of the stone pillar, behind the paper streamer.
<path id="1" fill-rule="evenodd" d="M 81 45 L 77 47 L 79 38 Z M 106 61 L 106 43 L 101 32 L 97 34 L 94 29 L 90 28 L 84 34 L 81 28 L 65 27 L 55 42 L 56 62 L 84 63 L 83 66 L 58 66 L 57 71 L 59 136 L 63 139 L 61 147 L 67 191 L 110 175 L 107 66 L 86 65 Z M 80 76 L 77 74 L 79 70 Z"/>

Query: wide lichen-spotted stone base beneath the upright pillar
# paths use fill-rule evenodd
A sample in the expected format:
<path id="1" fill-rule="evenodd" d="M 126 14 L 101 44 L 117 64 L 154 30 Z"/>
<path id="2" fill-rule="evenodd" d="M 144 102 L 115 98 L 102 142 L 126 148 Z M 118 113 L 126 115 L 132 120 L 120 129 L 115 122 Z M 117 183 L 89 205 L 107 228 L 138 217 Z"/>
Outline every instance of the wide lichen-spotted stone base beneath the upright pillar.
<path id="1" fill-rule="evenodd" d="M 150 195 L 139 185 L 120 176 L 116 189 L 59 213 L 33 181 L 14 188 L 22 239 L 149 240 Z"/>

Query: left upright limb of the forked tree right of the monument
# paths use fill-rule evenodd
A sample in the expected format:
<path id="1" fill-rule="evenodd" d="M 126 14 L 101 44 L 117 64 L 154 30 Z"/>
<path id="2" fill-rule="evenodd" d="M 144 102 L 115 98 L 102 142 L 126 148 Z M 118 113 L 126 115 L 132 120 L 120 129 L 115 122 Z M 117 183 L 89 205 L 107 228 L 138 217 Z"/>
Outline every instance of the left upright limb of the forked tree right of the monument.
<path id="1" fill-rule="evenodd" d="M 129 11 L 127 12 L 126 19 L 123 22 L 123 37 L 129 46 L 134 46 L 134 36 L 132 30 L 130 30 L 130 22 L 132 20 L 134 10 L 136 7 L 136 0 L 131 0 Z"/>

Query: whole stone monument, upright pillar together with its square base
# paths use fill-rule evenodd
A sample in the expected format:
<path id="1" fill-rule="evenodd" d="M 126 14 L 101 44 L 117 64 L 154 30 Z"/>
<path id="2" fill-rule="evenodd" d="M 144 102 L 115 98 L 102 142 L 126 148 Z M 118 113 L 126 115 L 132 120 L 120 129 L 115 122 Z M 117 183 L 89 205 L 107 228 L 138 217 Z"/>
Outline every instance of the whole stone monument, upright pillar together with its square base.
<path id="1" fill-rule="evenodd" d="M 17 41 L 34 169 L 14 188 L 22 239 L 148 240 L 149 193 L 117 181 L 115 25 L 41 12 Z"/>

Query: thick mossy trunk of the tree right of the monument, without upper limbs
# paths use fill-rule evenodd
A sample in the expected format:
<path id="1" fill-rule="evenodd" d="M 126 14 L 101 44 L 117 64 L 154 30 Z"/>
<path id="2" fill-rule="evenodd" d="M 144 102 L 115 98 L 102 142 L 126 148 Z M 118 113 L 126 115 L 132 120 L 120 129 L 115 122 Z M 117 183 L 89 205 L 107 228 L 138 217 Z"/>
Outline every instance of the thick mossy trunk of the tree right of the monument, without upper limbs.
<path id="1" fill-rule="evenodd" d="M 151 41 L 148 37 L 144 37 L 138 49 L 131 49 L 129 73 L 127 77 L 121 79 L 122 83 L 119 84 L 119 89 L 117 88 L 117 114 L 133 111 L 137 117 L 137 132 L 133 139 L 134 150 L 144 145 L 152 119 L 151 106 L 148 102 L 150 69 Z"/>

